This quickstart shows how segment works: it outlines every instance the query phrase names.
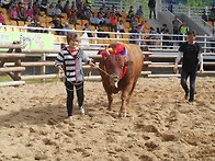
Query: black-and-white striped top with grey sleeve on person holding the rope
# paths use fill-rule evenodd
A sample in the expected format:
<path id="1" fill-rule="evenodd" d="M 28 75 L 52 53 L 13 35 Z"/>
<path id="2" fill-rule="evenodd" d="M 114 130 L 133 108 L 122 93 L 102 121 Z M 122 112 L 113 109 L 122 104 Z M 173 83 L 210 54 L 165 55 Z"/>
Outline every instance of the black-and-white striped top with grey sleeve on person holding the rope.
<path id="1" fill-rule="evenodd" d="M 61 66 L 67 81 L 83 81 L 82 62 L 90 62 L 91 59 L 79 48 L 78 54 L 72 56 L 68 48 L 64 48 L 55 60 L 55 66 Z"/>

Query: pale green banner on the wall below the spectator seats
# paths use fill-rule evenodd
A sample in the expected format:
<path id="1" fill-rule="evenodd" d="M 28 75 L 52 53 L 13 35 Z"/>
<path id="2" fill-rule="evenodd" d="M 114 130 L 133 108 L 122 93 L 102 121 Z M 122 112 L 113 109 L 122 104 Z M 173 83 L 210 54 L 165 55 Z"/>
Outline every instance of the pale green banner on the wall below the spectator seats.
<path id="1" fill-rule="evenodd" d="M 12 44 L 21 42 L 29 50 L 52 50 L 54 49 L 54 35 L 47 33 L 26 33 L 26 32 L 0 32 L 1 44 Z"/>

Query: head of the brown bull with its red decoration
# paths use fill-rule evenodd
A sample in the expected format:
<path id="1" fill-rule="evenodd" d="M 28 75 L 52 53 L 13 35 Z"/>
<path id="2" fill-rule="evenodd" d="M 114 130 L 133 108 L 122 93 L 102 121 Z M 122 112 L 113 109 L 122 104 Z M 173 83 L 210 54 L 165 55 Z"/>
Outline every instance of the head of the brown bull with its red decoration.
<path id="1" fill-rule="evenodd" d="M 110 85 L 117 88 L 118 81 L 127 71 L 127 58 L 125 55 L 115 54 L 112 49 L 100 50 L 102 55 L 103 70 L 110 80 Z"/>

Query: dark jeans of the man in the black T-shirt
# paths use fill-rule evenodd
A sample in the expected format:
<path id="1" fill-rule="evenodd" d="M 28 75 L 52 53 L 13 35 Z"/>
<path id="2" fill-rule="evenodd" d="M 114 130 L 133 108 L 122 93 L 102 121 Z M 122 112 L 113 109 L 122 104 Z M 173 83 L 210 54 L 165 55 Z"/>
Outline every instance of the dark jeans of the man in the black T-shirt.
<path id="1" fill-rule="evenodd" d="M 195 79 L 196 79 L 196 71 L 189 72 L 185 70 L 181 71 L 181 87 L 183 88 L 185 94 L 190 93 L 189 101 L 194 100 L 194 93 L 195 93 Z M 188 88 L 186 80 L 190 77 L 190 89 Z"/>

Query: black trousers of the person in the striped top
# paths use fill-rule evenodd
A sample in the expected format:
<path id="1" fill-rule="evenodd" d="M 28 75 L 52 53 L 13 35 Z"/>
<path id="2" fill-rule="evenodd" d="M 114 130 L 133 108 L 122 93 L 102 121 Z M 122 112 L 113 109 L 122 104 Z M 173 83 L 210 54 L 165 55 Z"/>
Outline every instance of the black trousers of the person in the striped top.
<path id="1" fill-rule="evenodd" d="M 76 87 L 76 93 L 78 97 L 78 105 L 81 107 L 83 105 L 83 82 L 72 83 L 69 81 L 65 82 L 67 90 L 67 113 L 68 116 L 72 116 L 73 111 L 73 87 Z"/>

